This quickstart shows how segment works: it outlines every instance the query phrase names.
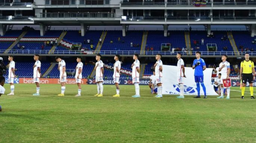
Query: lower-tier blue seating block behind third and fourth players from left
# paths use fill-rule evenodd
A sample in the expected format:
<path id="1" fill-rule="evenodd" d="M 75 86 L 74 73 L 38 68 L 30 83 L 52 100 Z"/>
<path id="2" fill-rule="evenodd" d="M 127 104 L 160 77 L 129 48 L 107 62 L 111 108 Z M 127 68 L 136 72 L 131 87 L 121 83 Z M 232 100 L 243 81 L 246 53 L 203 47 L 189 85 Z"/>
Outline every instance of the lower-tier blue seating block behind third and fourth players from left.
<path id="1" fill-rule="evenodd" d="M 84 63 L 83 63 L 84 64 Z M 66 71 L 67 71 L 67 77 L 68 78 L 75 78 L 75 67 L 77 66 L 77 63 L 70 63 L 70 62 L 66 62 Z M 83 65 L 83 71 L 82 71 L 82 75 L 83 78 L 87 78 L 88 75 L 90 75 L 92 73 L 92 70 L 94 68 L 94 65 L 91 64 L 84 64 Z M 71 72 L 71 74 L 68 74 L 68 72 Z M 54 66 L 54 68 L 52 69 L 52 71 L 50 71 L 49 76 L 51 78 L 59 78 L 59 71 L 58 71 L 58 64 L 56 64 Z"/>

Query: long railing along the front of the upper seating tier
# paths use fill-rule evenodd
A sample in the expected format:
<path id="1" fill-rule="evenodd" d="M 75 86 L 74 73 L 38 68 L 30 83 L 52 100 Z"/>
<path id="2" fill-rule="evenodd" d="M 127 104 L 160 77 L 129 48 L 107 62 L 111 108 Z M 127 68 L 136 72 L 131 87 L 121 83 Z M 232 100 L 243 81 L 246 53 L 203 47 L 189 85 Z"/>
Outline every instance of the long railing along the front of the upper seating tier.
<path id="1" fill-rule="evenodd" d="M 48 55 L 50 50 L 0 50 L 0 53 L 13 53 L 13 54 L 43 54 Z M 160 53 L 161 55 L 176 55 L 177 53 L 181 53 L 182 55 L 195 55 L 196 51 L 192 52 L 182 52 L 182 51 L 70 51 L 70 50 L 55 50 L 53 54 L 62 54 L 62 55 L 74 55 L 74 54 L 87 54 L 94 55 L 100 53 L 101 55 L 133 55 L 134 53 L 143 54 L 143 55 L 156 55 Z M 245 53 L 249 53 L 250 55 L 255 56 L 256 52 L 234 52 L 234 51 L 201 51 L 201 55 L 243 55 Z"/>

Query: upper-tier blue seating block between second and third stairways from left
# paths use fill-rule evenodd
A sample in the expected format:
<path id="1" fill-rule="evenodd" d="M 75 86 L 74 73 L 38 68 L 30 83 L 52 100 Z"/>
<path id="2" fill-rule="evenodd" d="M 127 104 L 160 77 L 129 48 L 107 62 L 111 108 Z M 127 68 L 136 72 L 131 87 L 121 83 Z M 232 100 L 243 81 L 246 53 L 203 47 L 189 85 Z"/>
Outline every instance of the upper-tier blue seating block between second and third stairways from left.
<path id="1" fill-rule="evenodd" d="M 69 44 L 72 43 L 81 43 L 83 48 L 90 49 L 90 44 L 87 44 L 87 39 L 90 39 L 90 43 L 94 46 L 93 50 L 95 50 L 99 38 L 101 37 L 102 31 L 87 31 L 84 36 L 81 36 L 77 30 L 69 30 L 67 34 L 64 36 L 63 41 Z M 86 43 L 84 43 L 84 39 Z M 72 46 L 72 45 L 71 45 Z"/>

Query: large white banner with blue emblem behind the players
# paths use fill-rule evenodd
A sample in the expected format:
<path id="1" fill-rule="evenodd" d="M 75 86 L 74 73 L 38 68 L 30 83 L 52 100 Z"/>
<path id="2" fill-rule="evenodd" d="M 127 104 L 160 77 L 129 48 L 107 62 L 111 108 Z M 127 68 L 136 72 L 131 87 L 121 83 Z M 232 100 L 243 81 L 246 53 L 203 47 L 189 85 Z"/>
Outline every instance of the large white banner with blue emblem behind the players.
<path id="1" fill-rule="evenodd" d="M 204 73 L 204 85 L 206 95 L 218 95 L 212 85 L 212 68 L 206 68 Z M 182 78 L 184 84 L 184 95 L 197 95 L 196 83 L 194 78 L 194 69 L 185 67 L 186 78 Z M 177 66 L 163 65 L 163 94 L 179 95 L 179 84 L 177 79 Z M 200 85 L 200 95 L 204 95 L 203 88 Z"/>

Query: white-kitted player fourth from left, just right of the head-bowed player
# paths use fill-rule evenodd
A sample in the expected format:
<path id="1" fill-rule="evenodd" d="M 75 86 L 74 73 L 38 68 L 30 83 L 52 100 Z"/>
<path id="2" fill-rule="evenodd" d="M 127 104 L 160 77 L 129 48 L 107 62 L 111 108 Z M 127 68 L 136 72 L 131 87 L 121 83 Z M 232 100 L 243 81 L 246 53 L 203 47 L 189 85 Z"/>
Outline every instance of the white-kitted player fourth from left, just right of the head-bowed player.
<path id="1" fill-rule="evenodd" d="M 82 80 L 82 71 L 83 71 L 83 63 L 81 61 L 82 61 L 82 58 L 78 56 L 77 66 L 75 67 L 75 81 L 78 86 L 78 94 L 75 95 L 75 97 L 81 96 L 81 80 Z"/>

